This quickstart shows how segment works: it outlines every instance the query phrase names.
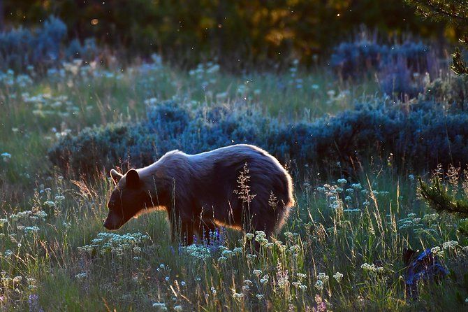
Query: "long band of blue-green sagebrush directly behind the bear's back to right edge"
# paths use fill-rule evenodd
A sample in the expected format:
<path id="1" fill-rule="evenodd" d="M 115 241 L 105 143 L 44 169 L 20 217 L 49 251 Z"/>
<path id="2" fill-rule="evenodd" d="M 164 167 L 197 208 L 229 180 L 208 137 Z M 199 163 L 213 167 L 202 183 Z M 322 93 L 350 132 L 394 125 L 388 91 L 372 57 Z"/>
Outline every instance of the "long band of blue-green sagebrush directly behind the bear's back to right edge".
<path id="1" fill-rule="evenodd" d="M 393 155 L 396 166 L 427 170 L 439 163 L 468 163 L 467 122 L 467 113 L 446 114 L 433 102 L 378 108 L 364 104 L 314 122 L 285 125 L 245 108 L 191 112 L 169 101 L 149 107 L 144 122 L 68 136 L 50 150 L 49 157 L 61 170 L 89 173 L 122 164 L 144 166 L 173 149 L 200 153 L 252 143 L 282 162 L 295 159 L 323 171 L 337 162 L 352 171 L 352 164 L 366 162 L 371 155 L 374 162 L 386 164 Z"/>

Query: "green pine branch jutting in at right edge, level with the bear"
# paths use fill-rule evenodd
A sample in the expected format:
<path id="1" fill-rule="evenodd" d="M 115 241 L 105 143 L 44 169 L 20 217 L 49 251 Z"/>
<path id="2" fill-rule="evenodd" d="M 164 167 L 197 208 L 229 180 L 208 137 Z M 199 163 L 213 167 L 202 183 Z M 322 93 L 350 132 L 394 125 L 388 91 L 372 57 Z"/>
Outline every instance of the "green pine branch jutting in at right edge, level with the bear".
<path id="1" fill-rule="evenodd" d="M 420 193 L 427 204 L 439 213 L 451 213 L 461 218 L 468 217 L 468 198 L 455 199 L 436 176 L 430 183 L 418 178 Z"/>

